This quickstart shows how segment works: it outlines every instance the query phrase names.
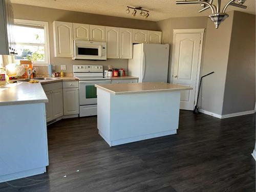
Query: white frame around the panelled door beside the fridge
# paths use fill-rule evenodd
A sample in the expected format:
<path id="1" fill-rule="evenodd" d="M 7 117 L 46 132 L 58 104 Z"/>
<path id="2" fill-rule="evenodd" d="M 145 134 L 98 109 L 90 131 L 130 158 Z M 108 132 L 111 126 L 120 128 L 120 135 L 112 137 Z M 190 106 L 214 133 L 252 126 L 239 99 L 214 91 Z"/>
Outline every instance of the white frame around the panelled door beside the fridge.
<path id="1" fill-rule="evenodd" d="M 201 60 L 202 60 L 202 50 L 203 50 L 203 39 L 204 39 L 204 28 L 203 29 L 174 29 L 173 30 L 173 46 L 172 46 L 172 64 L 170 66 L 170 82 L 173 83 L 173 72 L 174 72 L 174 56 L 175 56 L 175 41 L 176 34 L 184 33 L 200 33 L 200 45 L 199 45 L 199 58 L 198 58 L 198 67 L 197 67 L 197 79 L 196 79 L 196 90 L 195 90 L 195 99 L 194 107 L 196 106 L 196 100 L 198 95 L 199 88 L 199 79 L 200 79 L 200 69 L 201 69 Z"/>

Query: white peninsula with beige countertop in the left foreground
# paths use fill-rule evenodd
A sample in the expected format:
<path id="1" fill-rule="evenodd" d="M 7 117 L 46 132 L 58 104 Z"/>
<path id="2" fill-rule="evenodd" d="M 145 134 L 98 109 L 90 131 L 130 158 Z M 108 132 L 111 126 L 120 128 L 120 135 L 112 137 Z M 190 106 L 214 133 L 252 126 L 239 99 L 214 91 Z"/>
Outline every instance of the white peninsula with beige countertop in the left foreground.
<path id="1" fill-rule="evenodd" d="M 40 83 L 0 86 L 0 183 L 46 172 L 46 102 Z"/>

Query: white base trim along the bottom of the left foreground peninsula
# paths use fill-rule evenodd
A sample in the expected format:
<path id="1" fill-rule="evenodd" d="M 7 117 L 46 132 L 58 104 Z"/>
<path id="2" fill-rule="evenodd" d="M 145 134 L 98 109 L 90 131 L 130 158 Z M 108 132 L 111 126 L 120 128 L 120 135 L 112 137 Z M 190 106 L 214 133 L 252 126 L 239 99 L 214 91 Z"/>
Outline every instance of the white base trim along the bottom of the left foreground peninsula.
<path id="1" fill-rule="evenodd" d="M 44 173 L 46 173 L 46 167 L 45 166 L 30 169 L 30 170 L 25 170 L 23 172 L 18 172 L 18 173 L 13 173 L 13 174 L 0 176 L 0 183 L 6 182 L 6 181 L 12 181 L 12 180 L 16 180 L 16 179 L 21 179 L 21 178 L 24 178 L 24 177 L 30 177 L 30 176 L 34 176 L 34 175 L 44 174 Z"/>

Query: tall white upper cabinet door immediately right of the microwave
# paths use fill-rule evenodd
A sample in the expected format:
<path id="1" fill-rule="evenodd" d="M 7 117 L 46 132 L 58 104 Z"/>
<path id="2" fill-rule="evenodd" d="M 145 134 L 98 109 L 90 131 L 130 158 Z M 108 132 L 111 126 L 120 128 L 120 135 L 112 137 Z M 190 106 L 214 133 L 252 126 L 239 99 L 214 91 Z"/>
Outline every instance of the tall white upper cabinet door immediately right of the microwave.
<path id="1" fill-rule="evenodd" d="M 119 58 L 119 34 L 118 27 L 106 27 L 106 58 Z"/>

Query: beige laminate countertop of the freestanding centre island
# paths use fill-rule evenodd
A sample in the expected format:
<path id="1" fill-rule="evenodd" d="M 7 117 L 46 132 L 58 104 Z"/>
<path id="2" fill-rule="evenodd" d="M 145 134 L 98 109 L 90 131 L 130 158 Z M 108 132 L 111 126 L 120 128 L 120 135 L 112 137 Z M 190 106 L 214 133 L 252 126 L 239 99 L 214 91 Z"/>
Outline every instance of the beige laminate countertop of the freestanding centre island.
<path id="1" fill-rule="evenodd" d="M 124 84 L 95 84 L 95 87 L 115 95 L 135 94 L 135 93 L 154 93 L 168 91 L 184 91 L 193 88 L 179 86 L 165 82 L 140 82 Z"/>

